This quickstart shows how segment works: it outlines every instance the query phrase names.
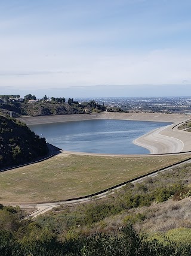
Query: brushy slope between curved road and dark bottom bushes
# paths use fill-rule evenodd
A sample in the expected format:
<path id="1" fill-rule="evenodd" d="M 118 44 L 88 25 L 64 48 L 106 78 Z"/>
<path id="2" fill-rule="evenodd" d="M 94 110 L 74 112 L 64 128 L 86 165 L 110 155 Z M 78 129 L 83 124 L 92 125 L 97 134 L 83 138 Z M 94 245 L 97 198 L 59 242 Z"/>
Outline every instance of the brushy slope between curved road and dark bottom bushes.
<path id="1" fill-rule="evenodd" d="M 39 216 L 36 221 L 41 225 L 49 224 L 53 230 L 57 230 L 61 240 L 95 231 L 116 233 L 128 221 L 134 224 L 138 222 L 138 225 L 142 225 L 141 230 L 149 233 L 165 233 L 171 228 L 191 228 L 189 201 L 183 204 L 187 207 L 185 213 L 180 204 L 181 200 L 185 200 L 184 198 L 191 194 L 190 173 L 191 164 L 177 167 L 141 183 L 128 183 L 119 191 L 101 200 L 96 200 L 95 197 L 92 198 L 91 203 L 62 205 L 47 215 Z M 160 204 L 164 201 L 166 201 L 165 206 Z M 160 223 L 156 224 L 154 220 L 152 222 L 152 218 L 156 221 L 155 217 L 161 215 L 159 210 L 165 210 L 163 213 L 168 214 L 161 216 L 158 219 Z M 175 217 L 179 218 L 179 221 Z M 174 225 L 168 225 L 168 221 L 164 222 L 165 218 L 172 219 Z M 150 219 L 150 226 L 148 223 L 147 226 L 145 225 L 146 219 Z M 64 229 L 59 229 L 60 224 Z M 137 231 L 140 231 L 138 227 Z"/>

